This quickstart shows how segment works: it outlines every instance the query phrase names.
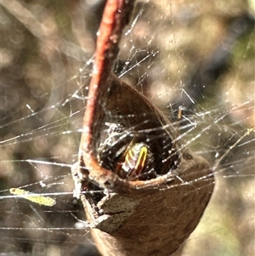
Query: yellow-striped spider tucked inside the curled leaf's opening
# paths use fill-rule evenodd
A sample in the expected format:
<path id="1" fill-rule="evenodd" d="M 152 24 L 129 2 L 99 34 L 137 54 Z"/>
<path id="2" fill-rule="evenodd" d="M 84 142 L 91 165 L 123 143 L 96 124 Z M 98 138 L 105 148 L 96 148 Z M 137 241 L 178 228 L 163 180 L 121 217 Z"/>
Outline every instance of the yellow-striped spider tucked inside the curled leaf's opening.
<path id="1" fill-rule="evenodd" d="M 153 156 L 148 145 L 143 142 L 132 145 L 126 152 L 119 176 L 123 179 L 136 179 L 152 169 Z"/>

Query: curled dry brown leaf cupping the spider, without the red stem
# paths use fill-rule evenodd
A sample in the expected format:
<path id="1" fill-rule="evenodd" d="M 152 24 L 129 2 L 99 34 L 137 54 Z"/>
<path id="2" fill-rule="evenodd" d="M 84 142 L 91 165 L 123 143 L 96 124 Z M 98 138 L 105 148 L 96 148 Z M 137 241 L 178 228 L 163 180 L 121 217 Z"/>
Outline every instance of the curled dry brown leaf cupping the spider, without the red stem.
<path id="1" fill-rule="evenodd" d="M 109 82 L 96 112 L 93 151 L 81 147 L 80 169 L 73 173 L 82 177 L 78 190 L 102 190 L 82 196 L 94 240 L 104 256 L 171 255 L 207 207 L 212 170 L 183 147 L 171 123 L 142 94 L 116 77 Z M 127 180 L 115 174 L 116 152 L 133 139 L 150 145 L 155 178 Z"/>

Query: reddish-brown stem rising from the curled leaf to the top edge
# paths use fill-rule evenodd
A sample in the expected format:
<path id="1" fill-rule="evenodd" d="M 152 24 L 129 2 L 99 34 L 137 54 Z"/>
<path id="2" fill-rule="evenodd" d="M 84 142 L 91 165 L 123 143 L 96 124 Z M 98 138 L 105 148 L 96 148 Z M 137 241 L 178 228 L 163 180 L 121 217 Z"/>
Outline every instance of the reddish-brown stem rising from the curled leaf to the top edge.
<path id="1" fill-rule="evenodd" d="M 83 119 L 83 134 L 80 148 L 91 151 L 95 112 L 99 98 L 111 85 L 109 75 L 118 53 L 118 43 L 121 39 L 122 28 L 127 25 L 128 16 L 133 10 L 133 1 L 107 1 L 101 21 L 96 46 L 92 78 L 88 91 L 88 102 Z"/>

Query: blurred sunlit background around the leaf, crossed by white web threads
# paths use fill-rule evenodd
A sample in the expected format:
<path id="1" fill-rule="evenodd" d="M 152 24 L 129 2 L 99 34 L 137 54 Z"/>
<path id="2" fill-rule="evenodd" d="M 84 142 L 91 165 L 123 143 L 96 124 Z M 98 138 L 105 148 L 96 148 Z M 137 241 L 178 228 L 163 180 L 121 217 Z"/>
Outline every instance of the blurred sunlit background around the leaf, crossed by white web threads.
<path id="1" fill-rule="evenodd" d="M 70 168 L 104 4 L 0 7 L 1 255 L 96 255 Z M 117 76 L 167 115 L 183 147 L 204 156 L 216 176 L 181 255 L 254 253 L 252 14 L 252 3 L 238 0 L 139 1 L 123 33 Z M 35 204 L 11 188 L 56 204 Z"/>

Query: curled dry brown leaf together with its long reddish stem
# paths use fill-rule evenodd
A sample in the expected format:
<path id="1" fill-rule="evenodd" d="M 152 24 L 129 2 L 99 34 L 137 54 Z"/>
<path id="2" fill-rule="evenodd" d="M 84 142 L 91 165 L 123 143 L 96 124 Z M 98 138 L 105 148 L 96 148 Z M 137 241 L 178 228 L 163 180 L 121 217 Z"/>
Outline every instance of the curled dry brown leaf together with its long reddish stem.
<path id="1" fill-rule="evenodd" d="M 199 223 L 214 179 L 208 162 L 186 149 L 161 111 L 111 75 L 132 9 L 133 1 L 105 5 L 72 174 L 77 196 L 91 191 L 81 198 L 103 256 L 168 256 Z M 133 144 L 146 148 L 133 153 L 135 165 L 126 157 Z"/>

